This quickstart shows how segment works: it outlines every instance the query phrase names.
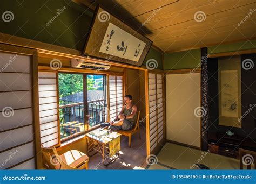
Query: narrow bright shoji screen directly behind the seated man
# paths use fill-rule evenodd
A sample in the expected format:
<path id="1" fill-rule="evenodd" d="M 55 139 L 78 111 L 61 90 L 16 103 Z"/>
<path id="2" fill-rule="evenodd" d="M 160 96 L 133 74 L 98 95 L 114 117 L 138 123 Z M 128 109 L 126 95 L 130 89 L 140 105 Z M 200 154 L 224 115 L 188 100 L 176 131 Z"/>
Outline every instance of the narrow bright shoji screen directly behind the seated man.
<path id="1" fill-rule="evenodd" d="M 109 76 L 110 121 L 117 117 L 123 107 L 123 76 Z"/>

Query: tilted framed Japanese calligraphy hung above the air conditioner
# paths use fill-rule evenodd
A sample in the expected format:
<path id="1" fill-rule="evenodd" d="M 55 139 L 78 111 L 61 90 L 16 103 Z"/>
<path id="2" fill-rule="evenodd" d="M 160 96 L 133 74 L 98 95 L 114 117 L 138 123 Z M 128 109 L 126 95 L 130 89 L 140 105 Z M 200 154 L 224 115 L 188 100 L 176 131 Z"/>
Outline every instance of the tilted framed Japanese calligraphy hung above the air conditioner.
<path id="1" fill-rule="evenodd" d="M 98 7 L 82 55 L 142 66 L 151 45 L 151 40 Z"/>

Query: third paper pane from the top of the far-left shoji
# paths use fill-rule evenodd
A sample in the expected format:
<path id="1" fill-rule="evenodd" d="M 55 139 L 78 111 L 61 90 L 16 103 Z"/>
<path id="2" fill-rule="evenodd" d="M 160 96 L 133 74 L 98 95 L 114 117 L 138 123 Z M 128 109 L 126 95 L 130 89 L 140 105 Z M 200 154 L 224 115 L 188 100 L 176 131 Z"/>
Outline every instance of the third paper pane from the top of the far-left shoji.
<path id="1" fill-rule="evenodd" d="M 31 107 L 31 91 L 15 91 L 0 93 L 0 110 L 4 107 L 20 109 Z"/>

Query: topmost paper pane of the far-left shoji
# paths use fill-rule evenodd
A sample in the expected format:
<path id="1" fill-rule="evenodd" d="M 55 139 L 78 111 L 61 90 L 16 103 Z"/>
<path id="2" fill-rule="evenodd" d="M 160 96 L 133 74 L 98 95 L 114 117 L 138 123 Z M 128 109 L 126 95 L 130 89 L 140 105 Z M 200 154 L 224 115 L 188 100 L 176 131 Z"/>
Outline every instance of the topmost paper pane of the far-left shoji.
<path id="1" fill-rule="evenodd" d="M 30 56 L 1 52 L 0 68 L 3 72 L 30 73 Z"/>

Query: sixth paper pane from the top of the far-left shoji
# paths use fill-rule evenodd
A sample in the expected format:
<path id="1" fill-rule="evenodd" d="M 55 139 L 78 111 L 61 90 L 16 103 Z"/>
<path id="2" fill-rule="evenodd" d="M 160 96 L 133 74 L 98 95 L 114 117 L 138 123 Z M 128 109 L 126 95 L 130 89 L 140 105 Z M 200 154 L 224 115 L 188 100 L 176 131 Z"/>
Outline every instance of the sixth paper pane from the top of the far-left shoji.
<path id="1" fill-rule="evenodd" d="M 10 158 L 12 156 L 12 158 Z M 0 153 L 0 163 L 5 163 L 1 169 L 18 164 L 26 159 L 34 157 L 33 142 Z M 6 162 L 6 160 L 9 160 Z"/>

